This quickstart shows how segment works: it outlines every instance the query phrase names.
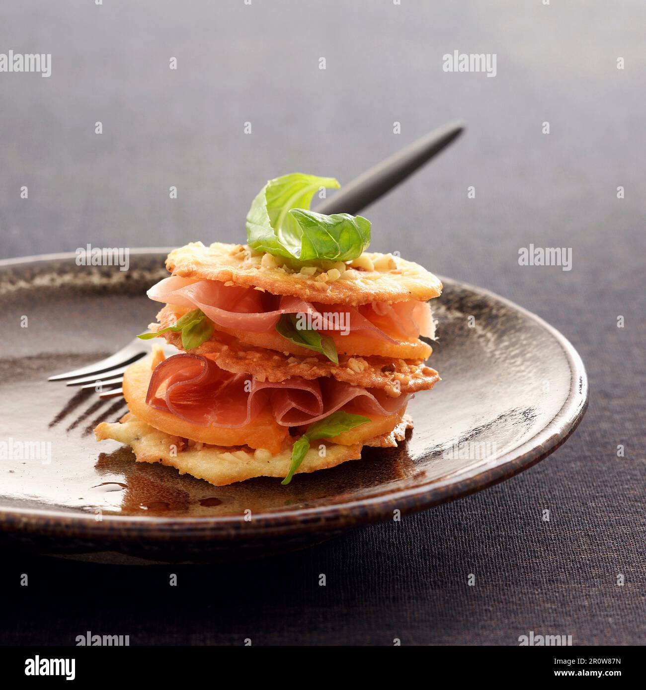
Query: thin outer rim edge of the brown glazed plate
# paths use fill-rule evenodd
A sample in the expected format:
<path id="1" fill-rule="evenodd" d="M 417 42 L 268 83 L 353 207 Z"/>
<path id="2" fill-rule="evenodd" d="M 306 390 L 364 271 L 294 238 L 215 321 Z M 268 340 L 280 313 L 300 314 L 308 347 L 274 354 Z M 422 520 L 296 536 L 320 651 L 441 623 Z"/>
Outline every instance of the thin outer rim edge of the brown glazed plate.
<path id="1" fill-rule="evenodd" d="M 172 248 L 130 248 L 135 255 L 167 255 Z M 39 254 L 0 259 L 0 267 L 66 261 L 74 259 L 75 252 Z M 583 419 L 589 400 L 589 384 L 583 359 L 569 340 L 554 326 L 525 307 L 501 297 L 491 290 L 473 286 L 457 279 L 438 276 L 447 282 L 498 301 L 507 308 L 534 321 L 547 331 L 560 345 L 569 364 L 571 380 L 569 393 L 552 420 L 538 433 L 513 451 L 497 457 L 495 464 L 486 464 L 471 471 L 458 473 L 435 482 L 412 486 L 401 491 L 389 491 L 348 502 L 318 505 L 305 509 L 275 509 L 257 513 L 246 522 L 242 515 L 204 517 L 141 517 L 103 515 L 100 521 L 92 513 L 72 513 L 61 509 L 30 509 L 0 506 L 0 532 L 55 535 L 57 537 L 91 539 L 101 542 L 140 540 L 164 542 L 179 537 L 191 540 L 262 539 L 311 533 L 315 531 L 344 531 L 355 526 L 386 520 L 394 509 L 402 514 L 415 513 L 464 498 L 494 484 L 510 479 L 554 453 L 571 436 Z"/>

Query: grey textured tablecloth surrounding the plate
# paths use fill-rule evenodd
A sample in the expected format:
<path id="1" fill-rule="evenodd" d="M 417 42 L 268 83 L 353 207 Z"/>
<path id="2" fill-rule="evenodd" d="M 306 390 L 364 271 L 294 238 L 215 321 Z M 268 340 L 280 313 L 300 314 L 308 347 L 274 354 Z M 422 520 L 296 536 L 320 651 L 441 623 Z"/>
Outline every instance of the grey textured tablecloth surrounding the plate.
<path id="1" fill-rule="evenodd" d="M 184 569 L 197 607 L 182 595 L 159 607 L 164 569 L 49 564 L 1 639 L 517 644 L 534 630 L 646 643 L 645 21 L 637 0 L 3 1 L 0 52 L 51 52 L 52 76 L 0 74 L 0 257 L 237 242 L 268 177 L 343 183 L 464 118 L 462 139 L 364 212 L 373 247 L 547 319 L 587 364 L 591 404 L 549 460 L 407 529 L 251 570 Z M 496 78 L 442 72 L 456 49 L 495 52 Z M 518 266 L 530 242 L 571 247 L 573 269 Z M 317 586 L 322 572 L 332 586 Z M 108 587 L 119 594 L 88 609 Z"/>

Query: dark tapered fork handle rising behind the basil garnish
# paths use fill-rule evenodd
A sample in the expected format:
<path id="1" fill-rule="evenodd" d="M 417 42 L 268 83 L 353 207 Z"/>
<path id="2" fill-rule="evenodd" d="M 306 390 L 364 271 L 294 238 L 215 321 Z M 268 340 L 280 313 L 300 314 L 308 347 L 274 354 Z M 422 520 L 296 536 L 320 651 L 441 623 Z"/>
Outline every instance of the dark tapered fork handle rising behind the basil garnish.
<path id="1" fill-rule="evenodd" d="M 412 175 L 431 158 L 451 144 L 464 130 L 462 121 L 451 122 L 430 134 L 413 141 L 401 151 L 370 168 L 363 175 L 353 179 L 330 199 L 326 199 L 314 210 L 317 213 L 332 215 L 333 213 L 350 213 L 357 215 L 362 208 L 366 208 L 373 201 L 379 199 L 401 181 Z"/>

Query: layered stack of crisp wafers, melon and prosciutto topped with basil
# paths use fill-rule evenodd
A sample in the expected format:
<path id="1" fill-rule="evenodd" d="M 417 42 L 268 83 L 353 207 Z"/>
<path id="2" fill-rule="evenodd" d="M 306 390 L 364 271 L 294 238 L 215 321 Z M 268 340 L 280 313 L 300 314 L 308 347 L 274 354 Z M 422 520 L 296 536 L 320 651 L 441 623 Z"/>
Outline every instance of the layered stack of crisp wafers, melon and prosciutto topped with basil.
<path id="1" fill-rule="evenodd" d="M 128 368 L 129 411 L 99 424 L 97 439 L 217 486 L 288 483 L 404 440 L 411 396 L 439 380 L 420 335 L 434 338 L 427 300 L 442 285 L 418 264 L 367 253 L 365 219 L 307 210 L 320 186 L 337 184 L 269 181 L 266 217 L 257 197 L 247 219 L 249 245 L 197 242 L 168 255 L 171 276 L 148 290 L 165 306 L 144 337 L 181 352 L 155 348 Z"/>

